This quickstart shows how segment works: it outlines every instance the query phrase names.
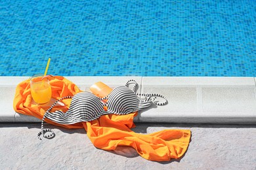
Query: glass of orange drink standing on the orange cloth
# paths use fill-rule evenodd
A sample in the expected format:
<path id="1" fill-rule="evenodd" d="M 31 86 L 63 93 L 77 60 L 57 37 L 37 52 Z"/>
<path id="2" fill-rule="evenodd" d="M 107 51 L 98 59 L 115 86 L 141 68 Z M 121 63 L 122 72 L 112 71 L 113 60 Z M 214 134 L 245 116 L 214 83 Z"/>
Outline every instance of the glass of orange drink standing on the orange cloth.
<path id="1" fill-rule="evenodd" d="M 35 103 L 47 104 L 51 101 L 52 90 L 50 81 L 43 75 L 34 75 L 30 78 L 30 92 Z"/>

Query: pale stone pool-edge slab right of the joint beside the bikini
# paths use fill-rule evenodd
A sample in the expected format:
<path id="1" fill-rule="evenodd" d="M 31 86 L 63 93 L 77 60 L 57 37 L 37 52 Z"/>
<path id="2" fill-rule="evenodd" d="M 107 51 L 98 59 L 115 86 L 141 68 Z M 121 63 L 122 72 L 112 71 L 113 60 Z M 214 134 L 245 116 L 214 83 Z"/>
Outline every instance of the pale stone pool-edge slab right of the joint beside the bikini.
<path id="1" fill-rule="evenodd" d="M 139 122 L 255 124 L 255 90 L 251 77 L 142 77 L 142 93 L 168 105 L 142 110 Z"/>

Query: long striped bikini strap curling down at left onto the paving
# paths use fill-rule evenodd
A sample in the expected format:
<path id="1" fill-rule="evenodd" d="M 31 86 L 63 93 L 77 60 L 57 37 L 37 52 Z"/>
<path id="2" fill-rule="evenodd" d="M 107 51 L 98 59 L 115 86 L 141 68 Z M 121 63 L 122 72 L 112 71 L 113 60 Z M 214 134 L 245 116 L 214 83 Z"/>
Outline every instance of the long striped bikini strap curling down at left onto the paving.
<path id="1" fill-rule="evenodd" d="M 41 135 L 43 135 L 43 137 L 47 138 L 47 139 L 51 139 L 55 136 L 54 132 L 52 129 L 43 129 L 43 122 L 45 122 L 45 118 L 46 118 L 46 115 L 48 112 L 51 111 L 51 109 L 53 109 L 53 107 L 61 100 L 63 99 L 72 99 L 72 96 L 65 96 L 65 97 L 62 97 L 60 99 L 58 99 L 57 101 L 55 101 L 53 103 L 53 105 L 45 112 L 45 114 L 43 115 L 43 118 L 42 118 L 42 122 L 41 122 L 41 131 L 39 131 L 39 133 L 37 133 L 37 137 L 38 139 L 42 140 L 41 139 Z M 51 132 L 49 135 L 46 135 L 47 132 Z"/>

